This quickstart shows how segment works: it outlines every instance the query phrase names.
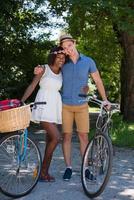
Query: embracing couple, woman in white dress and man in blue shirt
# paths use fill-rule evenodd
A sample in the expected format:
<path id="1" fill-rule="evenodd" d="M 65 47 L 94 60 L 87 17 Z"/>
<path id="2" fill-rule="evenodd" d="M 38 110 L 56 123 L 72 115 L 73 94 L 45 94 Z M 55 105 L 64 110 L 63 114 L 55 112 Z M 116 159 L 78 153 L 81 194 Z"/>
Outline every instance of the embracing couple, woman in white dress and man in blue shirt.
<path id="1" fill-rule="evenodd" d="M 106 102 L 108 108 L 110 107 L 95 62 L 78 52 L 71 35 L 62 35 L 59 42 L 60 46 L 50 51 L 48 64 L 44 68 L 35 67 L 33 81 L 21 99 L 25 101 L 39 83 L 40 89 L 35 102 L 45 101 L 46 104 L 37 105 L 37 108 L 32 111 L 32 118 L 39 121 L 47 132 L 40 176 L 40 181 L 44 182 L 55 181 L 48 171 L 53 152 L 60 139 L 56 124 L 62 124 L 63 128 L 63 154 L 66 164 L 64 180 L 70 180 L 72 176 L 71 139 L 74 120 L 80 141 L 81 156 L 84 154 L 88 144 L 89 113 L 88 104 L 80 101 L 82 97 L 79 94 L 87 91 L 89 75 L 93 78 L 103 101 Z"/>

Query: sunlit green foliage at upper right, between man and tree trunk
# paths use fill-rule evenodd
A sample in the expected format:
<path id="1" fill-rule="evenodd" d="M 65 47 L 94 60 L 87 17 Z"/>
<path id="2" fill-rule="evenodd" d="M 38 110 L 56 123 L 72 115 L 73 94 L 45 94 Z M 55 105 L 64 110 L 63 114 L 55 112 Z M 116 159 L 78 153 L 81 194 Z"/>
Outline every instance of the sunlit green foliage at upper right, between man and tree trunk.
<path id="1" fill-rule="evenodd" d="M 132 0 L 50 0 L 57 15 L 66 11 L 68 32 L 78 49 L 91 56 L 101 72 L 111 101 L 120 100 L 121 34 L 134 35 Z M 62 7 L 63 2 L 63 7 Z"/>

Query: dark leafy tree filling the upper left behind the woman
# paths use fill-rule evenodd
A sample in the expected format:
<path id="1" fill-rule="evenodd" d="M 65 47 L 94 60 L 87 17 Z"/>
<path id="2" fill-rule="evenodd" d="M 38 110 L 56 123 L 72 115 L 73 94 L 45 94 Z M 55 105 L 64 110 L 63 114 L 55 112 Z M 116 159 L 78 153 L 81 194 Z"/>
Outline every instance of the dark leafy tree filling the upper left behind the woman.
<path id="1" fill-rule="evenodd" d="M 21 96 L 33 74 L 33 66 L 46 61 L 52 46 L 48 34 L 31 39 L 34 28 L 49 27 L 42 0 L 5 0 L 0 6 L 0 98 Z"/>

